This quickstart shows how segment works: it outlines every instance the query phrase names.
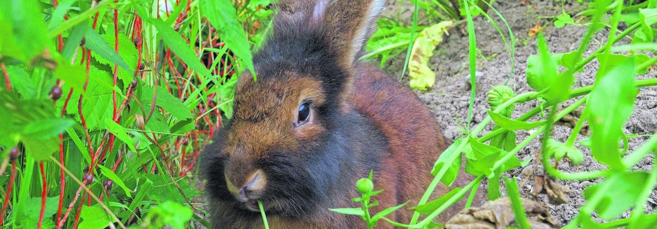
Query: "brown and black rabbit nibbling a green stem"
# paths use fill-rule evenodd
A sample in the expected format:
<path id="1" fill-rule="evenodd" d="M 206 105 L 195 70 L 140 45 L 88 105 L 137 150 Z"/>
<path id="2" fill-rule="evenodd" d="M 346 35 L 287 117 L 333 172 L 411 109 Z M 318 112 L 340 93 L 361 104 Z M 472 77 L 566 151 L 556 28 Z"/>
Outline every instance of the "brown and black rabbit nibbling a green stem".
<path id="1" fill-rule="evenodd" d="M 371 170 L 384 190 L 373 213 L 417 205 L 449 142 L 411 90 L 358 60 L 384 3 L 279 1 L 273 32 L 254 55 L 258 80 L 242 74 L 233 119 L 202 156 L 214 228 L 263 228 L 258 200 L 270 228 L 364 228 L 360 217 L 328 209 L 359 207 L 354 184 Z M 434 198 L 447 191 L 439 186 Z"/>

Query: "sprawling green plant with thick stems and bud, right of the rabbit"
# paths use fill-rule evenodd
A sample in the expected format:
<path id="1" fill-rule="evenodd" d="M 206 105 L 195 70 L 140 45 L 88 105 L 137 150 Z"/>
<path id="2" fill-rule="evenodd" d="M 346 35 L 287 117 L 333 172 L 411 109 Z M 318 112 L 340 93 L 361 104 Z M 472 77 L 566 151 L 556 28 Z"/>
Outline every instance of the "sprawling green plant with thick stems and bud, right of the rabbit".
<path id="1" fill-rule="evenodd" d="M 639 41 L 645 40 L 637 41 L 636 39 L 636 31 L 639 28 L 654 31 L 652 26 L 655 22 L 651 19 L 637 20 L 622 31 L 618 31 L 618 25 L 623 15 L 622 12 L 630 14 L 638 12 L 644 15 L 643 18 L 652 18 L 650 15 L 657 7 L 657 1 L 640 3 L 645 8 L 637 9 L 635 5 L 627 7 L 632 10 L 626 10 L 623 1 L 599 0 L 593 1 L 591 4 L 592 9 L 587 10 L 589 26 L 578 49 L 567 53 L 551 53 L 542 33 L 538 33 L 538 54 L 528 58 L 527 66 L 527 81 L 535 91 L 516 95 L 508 87 L 494 87 L 489 92 L 491 105 L 489 116 L 468 135 L 456 140 L 436 161 L 436 167 L 432 171 L 436 177 L 420 199 L 419 205 L 412 208 L 416 211 L 413 220 L 409 224 L 391 223 L 405 228 L 432 228 L 435 226 L 432 220 L 443 213 L 447 207 L 464 198 L 468 192 L 470 194 L 466 205 L 469 206 L 476 193 L 476 187 L 484 179 L 489 180 L 489 198 L 499 198 L 501 196 L 499 183 L 503 172 L 529 163 L 529 161 L 520 162 L 515 155 L 530 141 L 541 135 L 543 150 L 540 154 L 541 158 L 536 162 L 543 165 L 547 174 L 562 180 L 602 179 L 599 184 L 585 190 L 584 198 L 587 199 L 587 203 L 581 207 L 579 215 L 566 228 L 579 226 L 584 228 L 600 228 L 601 226 L 646 228 L 654 221 L 655 215 L 645 215 L 644 206 L 657 184 L 657 170 L 635 171 L 630 168 L 655 151 L 657 135 L 650 135 L 643 146 L 634 152 L 627 152 L 626 143 L 624 144 L 625 148 L 621 150 L 619 142 L 621 140 L 627 142 L 625 140 L 627 136 L 623 133 L 622 127 L 633 112 L 637 89 L 657 85 L 657 79 L 635 79 L 635 75 L 646 73 L 648 66 L 657 63 L 657 58 L 650 58 L 645 54 L 634 52 L 638 50 L 657 51 L 653 43 L 654 35 L 647 37 L 647 43 L 640 43 Z M 468 9 L 470 5 L 464 7 Z M 469 14 L 470 10 L 465 10 L 465 12 Z M 606 17 L 607 14 L 611 14 L 611 16 Z M 476 43 L 471 18 L 472 16 L 466 15 L 470 35 L 470 73 L 474 77 L 474 66 L 476 66 L 474 45 Z M 585 56 L 584 51 L 589 47 L 593 35 L 604 28 L 604 25 L 610 28 L 606 43 L 593 54 Z M 631 34 L 635 34 L 632 45 L 616 46 L 618 41 Z M 630 52 L 618 53 L 625 51 Z M 571 89 L 574 73 L 580 72 L 583 66 L 593 60 L 598 60 L 600 63 L 596 83 Z M 474 84 L 474 79 L 472 79 L 472 83 Z M 560 104 L 573 99 L 575 99 L 574 103 L 568 103 L 569 106 L 558 110 Z M 517 119 L 510 119 L 515 104 L 530 100 L 537 100 L 539 106 L 520 115 Z M 472 106 L 472 100 L 470 106 Z M 579 117 L 568 140 L 562 143 L 552 139 L 550 136 L 554 123 L 579 107 L 583 107 L 584 112 Z M 614 109 L 609 109 L 610 107 Z M 527 121 L 538 114 L 543 114 L 539 121 Z M 491 121 L 495 123 L 492 131 L 482 133 Z M 575 148 L 574 144 L 577 143 L 575 139 L 585 121 L 589 123 L 593 135 L 589 140 L 581 142 L 581 146 L 590 148 L 593 159 L 607 165 L 609 169 L 577 173 L 559 171 L 553 167 L 553 163 L 556 161 L 578 164 L 583 160 L 583 153 Z M 516 143 L 515 132 L 518 130 L 532 130 L 532 132 Z M 483 135 L 480 136 L 480 134 Z M 439 182 L 447 186 L 453 183 L 458 176 L 463 154 L 466 157 L 466 172 L 476 175 L 476 178 L 466 186 L 454 188 L 442 198 L 428 202 L 428 198 Z M 566 157 L 568 160 L 564 160 Z M 508 195 L 514 206 L 515 217 L 520 220 L 518 225 L 520 228 L 528 228 L 528 225 L 523 222 L 525 217 L 522 207 L 518 203 L 517 188 L 514 186 L 514 182 L 507 182 Z M 634 210 L 629 219 L 614 220 L 604 224 L 592 219 L 594 211 L 603 220 L 613 220 L 632 207 Z M 418 220 L 419 215 L 426 217 Z"/>

